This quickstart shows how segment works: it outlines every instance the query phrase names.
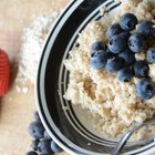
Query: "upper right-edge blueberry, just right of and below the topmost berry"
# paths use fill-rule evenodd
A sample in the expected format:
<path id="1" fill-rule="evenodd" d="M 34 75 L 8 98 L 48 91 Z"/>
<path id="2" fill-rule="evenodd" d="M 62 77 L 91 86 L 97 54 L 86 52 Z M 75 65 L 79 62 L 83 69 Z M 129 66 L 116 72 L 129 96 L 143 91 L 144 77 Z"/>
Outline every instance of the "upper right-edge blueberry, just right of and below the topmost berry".
<path id="1" fill-rule="evenodd" d="M 146 39 L 152 39 L 155 37 L 155 28 L 152 21 L 142 21 L 137 27 L 137 33 L 145 37 Z"/>

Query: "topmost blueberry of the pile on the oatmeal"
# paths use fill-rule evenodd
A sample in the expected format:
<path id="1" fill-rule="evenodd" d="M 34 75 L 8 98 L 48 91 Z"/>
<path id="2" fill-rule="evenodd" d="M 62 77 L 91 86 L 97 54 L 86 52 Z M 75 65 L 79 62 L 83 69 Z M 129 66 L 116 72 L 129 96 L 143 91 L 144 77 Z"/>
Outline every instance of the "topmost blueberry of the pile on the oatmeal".
<path id="1" fill-rule="evenodd" d="M 120 25 L 124 31 L 134 30 L 136 24 L 137 18 L 132 13 L 125 13 L 120 19 Z"/>

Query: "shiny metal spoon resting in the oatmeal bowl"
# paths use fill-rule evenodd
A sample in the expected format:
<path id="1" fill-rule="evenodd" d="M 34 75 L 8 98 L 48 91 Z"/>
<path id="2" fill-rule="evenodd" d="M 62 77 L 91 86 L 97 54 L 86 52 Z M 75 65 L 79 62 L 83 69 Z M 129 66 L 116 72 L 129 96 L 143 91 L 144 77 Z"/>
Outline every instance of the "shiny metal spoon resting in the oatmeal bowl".
<path id="1" fill-rule="evenodd" d="M 126 134 L 124 134 L 122 136 L 122 138 L 120 140 L 120 142 L 116 144 L 116 146 L 112 151 L 111 155 L 120 155 L 121 151 L 123 149 L 123 147 L 126 144 L 126 142 L 128 141 L 128 138 L 133 135 L 133 133 L 135 131 L 142 128 L 143 126 L 147 126 L 147 125 L 155 125 L 155 117 L 146 121 L 145 123 L 134 126 L 132 130 L 128 130 L 128 132 Z"/>

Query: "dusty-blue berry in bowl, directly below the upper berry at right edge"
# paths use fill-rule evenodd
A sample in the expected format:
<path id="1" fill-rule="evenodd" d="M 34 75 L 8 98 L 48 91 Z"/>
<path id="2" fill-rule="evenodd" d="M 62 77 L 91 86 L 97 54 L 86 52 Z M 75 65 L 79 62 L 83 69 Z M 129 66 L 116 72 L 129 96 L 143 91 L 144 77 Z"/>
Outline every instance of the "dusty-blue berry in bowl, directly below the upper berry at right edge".
<path id="1" fill-rule="evenodd" d="M 128 39 L 128 48 L 134 53 L 141 52 L 145 45 L 145 40 L 141 34 L 133 34 Z"/>

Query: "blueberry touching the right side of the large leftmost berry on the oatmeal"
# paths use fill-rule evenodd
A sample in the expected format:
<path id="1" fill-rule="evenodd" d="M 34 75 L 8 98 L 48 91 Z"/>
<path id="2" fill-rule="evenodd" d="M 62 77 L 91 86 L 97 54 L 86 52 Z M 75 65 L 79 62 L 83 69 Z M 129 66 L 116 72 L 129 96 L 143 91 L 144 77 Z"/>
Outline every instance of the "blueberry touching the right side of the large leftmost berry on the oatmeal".
<path id="1" fill-rule="evenodd" d="M 114 73 L 121 70 L 123 66 L 124 66 L 124 60 L 122 58 L 115 56 L 107 60 L 105 69 L 108 73 Z"/>

